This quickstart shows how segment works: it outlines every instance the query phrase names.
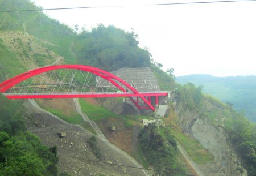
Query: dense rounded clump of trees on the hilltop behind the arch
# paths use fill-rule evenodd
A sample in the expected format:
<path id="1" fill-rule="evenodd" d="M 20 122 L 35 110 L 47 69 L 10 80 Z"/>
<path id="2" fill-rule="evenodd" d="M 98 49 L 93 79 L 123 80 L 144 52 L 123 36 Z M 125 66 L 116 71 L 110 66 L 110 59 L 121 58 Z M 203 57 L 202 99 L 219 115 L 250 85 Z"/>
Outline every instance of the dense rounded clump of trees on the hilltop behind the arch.
<path id="1" fill-rule="evenodd" d="M 138 47 L 137 35 L 113 25 L 99 24 L 91 32 L 83 31 L 73 46 L 79 63 L 107 71 L 123 67 L 150 67 L 150 54 Z"/>

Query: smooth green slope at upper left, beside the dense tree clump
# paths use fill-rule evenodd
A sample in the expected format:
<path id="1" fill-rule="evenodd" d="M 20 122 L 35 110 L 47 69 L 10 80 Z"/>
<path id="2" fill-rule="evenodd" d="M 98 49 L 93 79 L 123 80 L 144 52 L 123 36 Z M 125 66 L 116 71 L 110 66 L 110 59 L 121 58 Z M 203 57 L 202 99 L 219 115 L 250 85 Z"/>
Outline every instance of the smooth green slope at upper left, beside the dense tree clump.
<path id="1" fill-rule="evenodd" d="M 29 0 L 1 0 L 0 10 L 31 10 L 37 9 Z M 67 25 L 49 18 L 42 11 L 1 12 L 0 31 L 19 31 L 32 35 L 54 45 L 47 48 L 65 58 L 66 63 L 76 63 L 71 51 L 71 44 L 76 37 L 75 32 Z"/>

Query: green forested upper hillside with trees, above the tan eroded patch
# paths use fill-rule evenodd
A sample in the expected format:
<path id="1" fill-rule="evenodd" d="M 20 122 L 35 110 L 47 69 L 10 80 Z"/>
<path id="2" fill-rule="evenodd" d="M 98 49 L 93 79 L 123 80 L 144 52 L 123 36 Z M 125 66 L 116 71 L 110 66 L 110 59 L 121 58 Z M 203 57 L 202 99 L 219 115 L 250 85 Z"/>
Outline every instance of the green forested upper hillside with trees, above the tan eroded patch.
<path id="1" fill-rule="evenodd" d="M 39 7 L 28 0 L 0 1 L 1 11 L 36 8 Z M 92 31 L 83 31 L 77 35 L 70 27 L 49 18 L 42 11 L 19 11 L 1 12 L 0 30 L 19 31 L 23 35 L 47 41 L 44 44 L 46 48 L 64 57 L 65 63 L 80 63 L 108 71 L 123 67 L 150 67 L 150 53 L 138 47 L 137 34 L 125 32 L 113 25 L 105 27 L 99 24 Z M 2 37 L 8 35 L 5 33 Z M 5 50 L 8 54 L 9 49 Z M 9 57 L 19 59 L 17 55 L 9 54 Z"/>

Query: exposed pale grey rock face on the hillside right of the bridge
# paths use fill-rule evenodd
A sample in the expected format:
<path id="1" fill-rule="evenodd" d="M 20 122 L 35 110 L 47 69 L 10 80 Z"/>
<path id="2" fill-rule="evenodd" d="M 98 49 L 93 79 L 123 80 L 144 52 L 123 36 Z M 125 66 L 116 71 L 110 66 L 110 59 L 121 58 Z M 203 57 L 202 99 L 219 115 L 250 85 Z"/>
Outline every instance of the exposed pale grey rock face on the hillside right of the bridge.
<path id="1" fill-rule="evenodd" d="M 176 100 L 174 106 L 183 133 L 196 138 L 214 156 L 215 164 L 201 166 L 205 175 L 247 175 L 236 153 L 230 147 L 222 127 L 212 125 L 207 117 L 185 108 Z M 209 110 L 207 106 L 214 107 L 214 105 L 205 105 L 207 110 Z"/>

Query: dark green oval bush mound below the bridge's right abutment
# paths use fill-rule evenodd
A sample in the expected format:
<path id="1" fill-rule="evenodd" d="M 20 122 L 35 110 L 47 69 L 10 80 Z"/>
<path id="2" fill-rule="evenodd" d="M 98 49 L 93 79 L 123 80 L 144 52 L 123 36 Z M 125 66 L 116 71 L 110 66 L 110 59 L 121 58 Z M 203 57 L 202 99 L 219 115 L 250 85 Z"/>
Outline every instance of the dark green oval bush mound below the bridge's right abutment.
<path id="1" fill-rule="evenodd" d="M 157 127 L 150 123 L 139 133 L 139 142 L 148 164 L 155 170 L 163 170 L 159 175 L 170 175 L 184 172 L 184 168 L 177 157 L 177 144 L 174 136 L 167 128 Z"/>

